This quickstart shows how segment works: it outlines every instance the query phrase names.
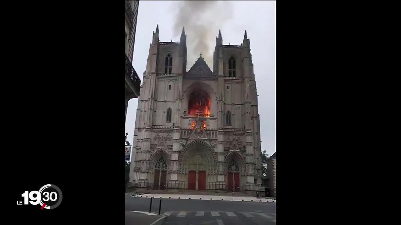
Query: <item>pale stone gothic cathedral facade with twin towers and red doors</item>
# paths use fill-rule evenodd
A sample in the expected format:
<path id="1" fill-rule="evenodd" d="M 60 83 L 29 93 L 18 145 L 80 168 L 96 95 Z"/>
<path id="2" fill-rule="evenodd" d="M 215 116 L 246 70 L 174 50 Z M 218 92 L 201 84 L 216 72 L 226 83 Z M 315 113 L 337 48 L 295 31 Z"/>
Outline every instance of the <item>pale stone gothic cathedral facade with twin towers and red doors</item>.
<path id="1" fill-rule="evenodd" d="M 186 71 L 180 42 L 153 33 L 136 112 L 129 187 L 253 191 L 261 183 L 260 126 L 249 38 L 216 38 L 213 71 Z"/>

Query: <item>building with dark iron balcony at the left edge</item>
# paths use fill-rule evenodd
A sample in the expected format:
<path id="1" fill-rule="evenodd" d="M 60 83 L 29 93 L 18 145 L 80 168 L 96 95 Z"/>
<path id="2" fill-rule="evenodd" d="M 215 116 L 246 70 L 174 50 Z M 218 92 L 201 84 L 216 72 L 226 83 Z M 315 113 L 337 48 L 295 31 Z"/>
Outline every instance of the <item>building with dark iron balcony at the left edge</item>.
<path id="1" fill-rule="evenodd" d="M 140 95 L 141 80 L 132 66 L 139 1 L 125 1 L 125 116 L 128 101 Z"/>

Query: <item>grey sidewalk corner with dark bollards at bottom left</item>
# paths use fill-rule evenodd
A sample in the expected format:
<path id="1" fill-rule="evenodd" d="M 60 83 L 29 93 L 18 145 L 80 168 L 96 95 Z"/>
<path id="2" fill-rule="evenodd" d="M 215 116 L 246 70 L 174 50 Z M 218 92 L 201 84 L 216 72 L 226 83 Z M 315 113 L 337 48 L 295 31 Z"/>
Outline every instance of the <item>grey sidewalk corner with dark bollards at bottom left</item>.
<path id="1" fill-rule="evenodd" d="M 125 211 L 125 224 L 144 224 L 144 225 L 160 225 L 164 222 L 165 215 L 158 215 L 156 213 L 139 212 L 139 211 Z"/>

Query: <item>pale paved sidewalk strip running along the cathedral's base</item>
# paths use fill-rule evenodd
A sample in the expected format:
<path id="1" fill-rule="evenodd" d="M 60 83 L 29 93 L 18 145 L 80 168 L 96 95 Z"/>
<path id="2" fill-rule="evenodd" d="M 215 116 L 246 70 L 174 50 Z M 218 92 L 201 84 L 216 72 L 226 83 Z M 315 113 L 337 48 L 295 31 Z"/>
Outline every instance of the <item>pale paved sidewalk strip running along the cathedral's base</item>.
<path id="1" fill-rule="evenodd" d="M 255 202 L 275 202 L 275 199 L 257 199 L 256 197 L 242 197 L 235 196 L 216 196 L 216 195 L 175 195 L 175 194 L 143 194 L 143 195 L 130 195 L 131 197 L 151 198 L 155 199 L 198 199 L 198 200 L 213 200 L 213 201 L 255 201 Z"/>

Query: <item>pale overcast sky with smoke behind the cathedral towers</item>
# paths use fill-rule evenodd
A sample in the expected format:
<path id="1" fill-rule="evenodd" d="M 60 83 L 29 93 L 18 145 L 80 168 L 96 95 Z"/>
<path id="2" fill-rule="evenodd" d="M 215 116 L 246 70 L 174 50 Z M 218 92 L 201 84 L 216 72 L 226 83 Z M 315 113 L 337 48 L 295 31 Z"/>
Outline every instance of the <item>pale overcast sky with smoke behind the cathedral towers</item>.
<path id="1" fill-rule="evenodd" d="M 188 68 L 199 53 L 213 70 L 212 55 L 221 29 L 223 44 L 240 45 L 247 30 L 260 115 L 261 148 L 275 153 L 275 1 L 140 1 L 133 66 L 143 81 L 152 33 L 160 41 L 180 42 L 187 35 Z M 134 139 L 138 98 L 128 102 L 126 132 Z"/>

